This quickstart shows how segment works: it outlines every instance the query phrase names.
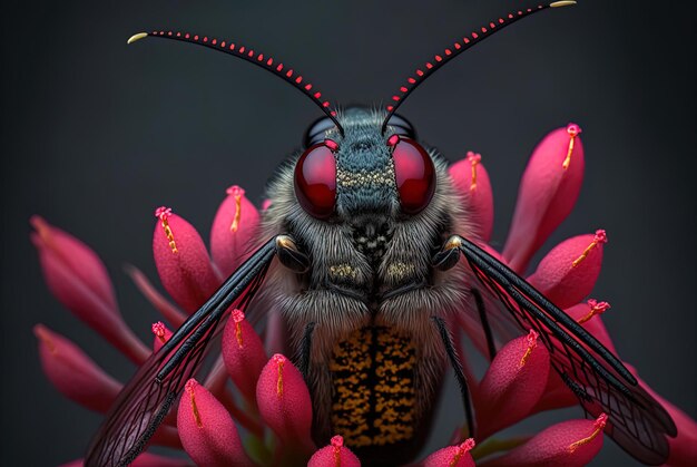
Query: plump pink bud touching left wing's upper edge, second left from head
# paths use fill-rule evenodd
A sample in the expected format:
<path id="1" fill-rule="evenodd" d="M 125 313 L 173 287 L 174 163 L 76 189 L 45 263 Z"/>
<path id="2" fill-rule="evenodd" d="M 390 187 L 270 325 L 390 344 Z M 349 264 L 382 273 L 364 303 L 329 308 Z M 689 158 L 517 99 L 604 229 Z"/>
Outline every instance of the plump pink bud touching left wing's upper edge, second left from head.
<path id="1" fill-rule="evenodd" d="M 159 207 L 153 235 L 155 265 L 163 285 L 184 310 L 198 310 L 213 295 L 219 281 L 203 240 L 184 218 Z"/>

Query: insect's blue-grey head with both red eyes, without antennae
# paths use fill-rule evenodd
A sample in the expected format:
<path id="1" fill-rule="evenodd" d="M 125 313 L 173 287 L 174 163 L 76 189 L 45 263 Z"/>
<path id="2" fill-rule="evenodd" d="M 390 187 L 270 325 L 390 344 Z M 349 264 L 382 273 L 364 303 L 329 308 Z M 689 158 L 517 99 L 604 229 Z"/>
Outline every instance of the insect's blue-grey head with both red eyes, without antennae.
<path id="1" fill-rule="evenodd" d="M 342 114 L 343 135 L 326 119 L 311 127 L 311 145 L 295 167 L 295 194 L 310 215 L 411 216 L 429 205 L 435 191 L 431 156 L 406 120 L 394 116 L 382 132 L 381 117 L 353 107 Z"/>

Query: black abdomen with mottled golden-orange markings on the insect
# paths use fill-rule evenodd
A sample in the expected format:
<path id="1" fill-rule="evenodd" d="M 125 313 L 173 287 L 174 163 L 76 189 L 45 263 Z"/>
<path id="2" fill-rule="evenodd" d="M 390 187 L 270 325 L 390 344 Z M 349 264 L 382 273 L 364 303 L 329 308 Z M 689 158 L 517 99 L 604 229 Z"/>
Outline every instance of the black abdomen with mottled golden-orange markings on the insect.
<path id="1" fill-rule="evenodd" d="M 366 327 L 334 346 L 332 432 L 352 449 L 392 446 L 414 437 L 415 353 L 391 328 Z"/>

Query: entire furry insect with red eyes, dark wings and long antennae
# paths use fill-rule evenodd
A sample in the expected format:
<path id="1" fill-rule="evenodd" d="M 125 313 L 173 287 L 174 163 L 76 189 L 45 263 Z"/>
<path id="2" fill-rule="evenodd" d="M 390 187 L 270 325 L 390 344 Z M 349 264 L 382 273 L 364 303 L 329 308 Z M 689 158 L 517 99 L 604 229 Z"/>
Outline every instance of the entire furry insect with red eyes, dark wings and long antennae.
<path id="1" fill-rule="evenodd" d="M 326 444 L 341 434 L 367 464 L 413 459 L 448 367 L 475 434 L 449 331 L 463 303 L 472 303 L 468 312 L 481 323 L 491 354 L 494 332 L 511 338 L 505 324 L 537 330 L 587 415 L 608 414 L 605 431 L 637 459 L 665 461 L 666 436 L 676 434 L 669 415 L 592 335 L 477 245 L 445 160 L 395 114 L 462 51 L 521 18 L 572 3 L 488 23 L 418 69 L 385 110 L 337 111 L 294 70 L 240 45 L 169 31 L 131 37 L 129 43 L 161 37 L 243 58 L 292 84 L 326 116 L 271 183 L 257 249 L 138 370 L 92 440 L 86 465 L 131 461 L 199 368 L 225 311 L 245 310 L 253 298 L 271 302 L 287 322 L 312 395 L 315 440 Z M 397 417 L 386 417 L 387 408 Z"/>

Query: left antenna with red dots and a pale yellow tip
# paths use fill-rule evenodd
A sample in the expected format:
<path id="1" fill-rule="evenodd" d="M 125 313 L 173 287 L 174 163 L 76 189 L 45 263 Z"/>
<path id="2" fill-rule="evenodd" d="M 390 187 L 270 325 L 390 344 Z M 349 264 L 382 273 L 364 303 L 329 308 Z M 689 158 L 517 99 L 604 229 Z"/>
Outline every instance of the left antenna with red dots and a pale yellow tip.
<path id="1" fill-rule="evenodd" d="M 179 40 L 181 42 L 195 43 L 197 46 L 208 47 L 209 49 L 218 50 L 228 55 L 232 55 L 243 60 L 247 60 L 251 64 L 262 67 L 267 71 L 273 72 L 284 81 L 293 85 L 296 89 L 310 97 L 327 117 L 334 121 L 338 133 L 343 136 L 344 129 L 336 120 L 336 110 L 332 108 L 328 100 L 322 99 L 322 93 L 313 89 L 313 85 L 306 81 L 302 75 L 296 72 L 293 68 L 286 67 L 281 61 L 274 60 L 272 57 L 266 57 L 264 53 L 255 51 L 249 47 L 235 43 L 229 40 L 218 40 L 209 38 L 208 36 L 198 36 L 188 32 L 173 32 L 173 31 L 153 31 L 153 32 L 139 32 L 131 36 L 128 39 L 128 43 L 132 43 L 146 37 L 157 37 L 163 39 Z"/>

